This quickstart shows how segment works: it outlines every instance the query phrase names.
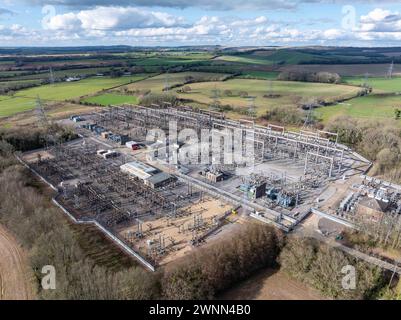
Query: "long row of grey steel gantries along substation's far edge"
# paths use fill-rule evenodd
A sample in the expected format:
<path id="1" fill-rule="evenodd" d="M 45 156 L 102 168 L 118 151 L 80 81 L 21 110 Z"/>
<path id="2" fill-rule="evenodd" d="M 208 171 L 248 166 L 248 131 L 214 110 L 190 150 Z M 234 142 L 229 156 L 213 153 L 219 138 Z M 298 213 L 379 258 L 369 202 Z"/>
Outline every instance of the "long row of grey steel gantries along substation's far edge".
<path id="1" fill-rule="evenodd" d="M 174 122 L 177 130 L 190 128 L 200 134 L 202 129 L 207 129 L 212 135 L 220 136 L 223 130 L 229 132 L 240 130 L 246 137 L 243 143 L 253 141 L 255 157 L 257 156 L 259 161 L 280 158 L 303 160 L 305 174 L 323 165 L 329 177 L 341 174 L 347 150 L 338 143 L 337 133 L 323 130 L 288 131 L 273 124 L 260 126 L 254 121 L 230 120 L 222 113 L 195 110 L 188 106 L 111 106 L 97 113 L 97 121 L 99 124 L 112 125 L 114 128 L 140 127 L 144 131 L 157 128 L 166 132 L 171 122 Z"/>

